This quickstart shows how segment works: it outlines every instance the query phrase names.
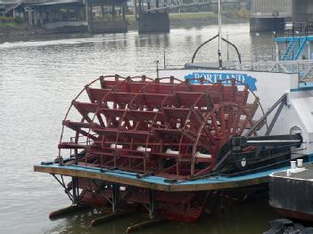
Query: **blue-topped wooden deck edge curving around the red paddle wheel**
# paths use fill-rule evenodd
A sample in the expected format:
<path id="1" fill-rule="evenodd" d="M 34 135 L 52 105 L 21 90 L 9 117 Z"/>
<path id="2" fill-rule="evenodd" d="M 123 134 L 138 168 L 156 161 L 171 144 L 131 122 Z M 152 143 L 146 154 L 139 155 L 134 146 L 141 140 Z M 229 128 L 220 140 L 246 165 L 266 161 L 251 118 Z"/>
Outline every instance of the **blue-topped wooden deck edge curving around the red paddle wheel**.
<path id="1" fill-rule="evenodd" d="M 283 170 L 284 168 L 282 168 Z M 121 170 L 107 170 L 99 167 L 81 165 L 35 165 L 36 172 L 61 174 L 89 178 L 106 182 L 116 182 L 125 185 L 137 186 L 151 190 L 162 191 L 196 191 L 196 190 L 222 190 L 251 186 L 268 182 L 269 175 L 277 169 L 258 173 L 241 174 L 235 176 L 210 176 L 205 178 L 168 182 L 165 177 L 147 175 L 137 178 L 137 173 Z"/>

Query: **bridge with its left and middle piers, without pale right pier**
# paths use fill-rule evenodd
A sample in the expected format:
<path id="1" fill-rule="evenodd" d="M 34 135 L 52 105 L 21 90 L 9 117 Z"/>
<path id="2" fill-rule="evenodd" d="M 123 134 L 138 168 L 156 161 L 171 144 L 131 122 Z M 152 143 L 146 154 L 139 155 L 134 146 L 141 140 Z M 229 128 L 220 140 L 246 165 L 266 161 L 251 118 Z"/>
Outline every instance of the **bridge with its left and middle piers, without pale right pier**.
<path id="1" fill-rule="evenodd" d="M 13 0 L 9 0 L 13 1 Z M 56 31 L 91 33 L 126 32 L 129 0 L 20 0 L 4 15 L 29 21 L 29 25 Z M 132 0 L 138 31 L 169 32 L 169 12 L 191 6 L 218 4 L 218 0 Z M 247 0 L 222 0 L 240 4 Z M 186 3 L 187 2 L 187 3 Z"/>

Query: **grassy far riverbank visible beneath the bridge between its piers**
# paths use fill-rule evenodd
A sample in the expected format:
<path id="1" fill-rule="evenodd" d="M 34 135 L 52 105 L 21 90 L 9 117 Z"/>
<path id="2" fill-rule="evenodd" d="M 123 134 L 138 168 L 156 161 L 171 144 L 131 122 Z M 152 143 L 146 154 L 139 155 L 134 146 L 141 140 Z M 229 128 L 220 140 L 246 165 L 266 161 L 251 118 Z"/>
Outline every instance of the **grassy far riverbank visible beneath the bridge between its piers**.
<path id="1" fill-rule="evenodd" d="M 127 16 L 128 30 L 137 30 L 137 22 L 133 15 Z M 170 28 L 193 28 L 218 24 L 218 16 L 213 12 L 185 12 L 170 13 Z M 245 17 L 223 17 L 223 23 L 242 23 L 248 22 Z M 81 31 L 84 33 L 84 31 Z M 52 30 L 45 28 L 31 27 L 26 23 L 7 22 L 0 23 L 0 39 L 13 39 L 15 37 L 29 37 L 54 35 L 64 33 L 64 30 Z"/>

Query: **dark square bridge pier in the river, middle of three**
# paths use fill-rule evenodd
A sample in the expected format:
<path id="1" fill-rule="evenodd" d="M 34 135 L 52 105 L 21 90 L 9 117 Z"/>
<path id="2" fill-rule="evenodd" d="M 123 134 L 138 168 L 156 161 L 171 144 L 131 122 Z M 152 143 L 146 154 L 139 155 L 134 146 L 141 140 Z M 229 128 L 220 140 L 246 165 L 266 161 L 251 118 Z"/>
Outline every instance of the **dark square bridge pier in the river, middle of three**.
<path id="1" fill-rule="evenodd" d="M 141 12 L 138 20 L 138 32 L 169 33 L 169 12 Z"/>

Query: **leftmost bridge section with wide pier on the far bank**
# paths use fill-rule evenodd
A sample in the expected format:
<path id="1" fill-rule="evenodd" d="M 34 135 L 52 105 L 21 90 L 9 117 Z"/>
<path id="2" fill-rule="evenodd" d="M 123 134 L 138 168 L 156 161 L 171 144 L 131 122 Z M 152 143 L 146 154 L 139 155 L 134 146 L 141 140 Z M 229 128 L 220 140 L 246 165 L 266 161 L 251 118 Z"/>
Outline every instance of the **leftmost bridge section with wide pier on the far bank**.
<path id="1" fill-rule="evenodd" d="M 127 32 L 126 0 L 20 0 L 5 16 L 54 32 Z"/>

